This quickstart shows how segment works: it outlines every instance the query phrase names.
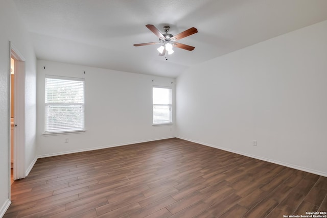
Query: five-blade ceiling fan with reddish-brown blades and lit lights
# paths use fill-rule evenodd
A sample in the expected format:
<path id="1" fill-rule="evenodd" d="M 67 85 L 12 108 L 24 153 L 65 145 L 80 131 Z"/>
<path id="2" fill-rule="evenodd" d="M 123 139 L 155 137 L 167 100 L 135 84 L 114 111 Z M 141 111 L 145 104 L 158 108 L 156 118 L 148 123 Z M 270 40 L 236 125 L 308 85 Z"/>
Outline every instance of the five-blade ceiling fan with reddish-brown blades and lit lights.
<path id="1" fill-rule="evenodd" d="M 179 42 L 176 42 L 179 39 L 185 38 L 186 36 L 190 36 L 192 34 L 195 34 L 198 32 L 198 30 L 194 27 L 185 30 L 177 35 L 172 35 L 170 33 L 168 33 L 170 27 L 169 26 L 164 26 L 164 31 L 165 33 L 160 33 L 160 31 L 153 25 L 148 24 L 146 25 L 146 27 L 152 32 L 154 33 L 156 36 L 159 37 L 159 42 L 148 42 L 148 43 L 141 43 L 141 44 L 134 44 L 134 46 L 142 46 L 142 45 L 151 45 L 151 44 L 161 44 L 160 47 L 158 47 L 158 52 L 159 52 L 159 56 L 164 56 L 166 54 L 166 52 L 168 52 L 168 54 L 173 54 L 173 47 L 179 47 L 179 49 L 185 49 L 188 51 L 192 51 L 195 49 L 195 47 L 191 46 L 191 45 L 187 45 L 187 44 L 182 44 Z"/>

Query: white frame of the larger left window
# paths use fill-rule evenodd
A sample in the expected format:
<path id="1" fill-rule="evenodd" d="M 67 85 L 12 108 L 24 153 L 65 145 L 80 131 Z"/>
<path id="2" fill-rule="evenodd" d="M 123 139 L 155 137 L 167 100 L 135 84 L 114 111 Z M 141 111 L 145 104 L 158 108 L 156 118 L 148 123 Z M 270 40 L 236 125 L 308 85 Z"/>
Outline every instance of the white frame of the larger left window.
<path id="1" fill-rule="evenodd" d="M 83 102 L 82 103 L 73 103 L 73 102 L 67 102 L 67 103 L 47 103 L 46 102 L 46 93 L 47 93 L 47 79 L 56 79 L 56 80 L 72 80 L 72 81 L 82 81 L 83 82 Z M 81 128 L 70 128 L 72 130 L 63 129 L 63 130 L 46 130 L 46 122 L 48 120 L 47 117 L 47 107 L 50 105 L 82 105 L 82 125 Z M 64 76 L 55 76 L 55 75 L 45 75 L 44 78 L 44 135 L 61 135 L 61 134 L 74 134 L 74 133 L 83 133 L 85 132 L 85 79 L 84 78 L 77 78 L 77 77 L 64 77 Z"/>

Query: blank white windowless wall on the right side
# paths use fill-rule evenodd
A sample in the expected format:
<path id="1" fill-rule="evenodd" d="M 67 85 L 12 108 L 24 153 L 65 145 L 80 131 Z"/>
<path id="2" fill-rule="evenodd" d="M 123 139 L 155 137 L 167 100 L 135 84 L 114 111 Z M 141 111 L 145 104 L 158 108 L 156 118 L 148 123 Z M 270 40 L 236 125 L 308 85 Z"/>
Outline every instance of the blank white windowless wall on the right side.
<path id="1" fill-rule="evenodd" d="M 177 137 L 327 176 L 326 39 L 323 21 L 184 72 Z"/>

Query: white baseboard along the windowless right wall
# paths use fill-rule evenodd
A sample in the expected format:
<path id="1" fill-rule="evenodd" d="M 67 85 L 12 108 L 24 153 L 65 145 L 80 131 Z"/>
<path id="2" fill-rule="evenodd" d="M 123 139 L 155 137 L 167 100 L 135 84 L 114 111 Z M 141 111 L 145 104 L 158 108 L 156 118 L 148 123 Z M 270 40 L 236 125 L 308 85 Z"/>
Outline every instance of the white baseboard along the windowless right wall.
<path id="1" fill-rule="evenodd" d="M 281 162 L 281 161 L 271 160 L 271 159 L 268 159 L 268 158 L 259 157 L 259 156 L 255 156 L 255 155 L 251 155 L 251 154 L 247 154 L 247 153 L 243 153 L 243 152 L 239 152 L 239 151 L 219 147 L 219 146 L 216 146 L 214 144 L 208 144 L 208 143 L 204 143 L 204 142 L 201 142 L 201 141 L 196 141 L 196 140 L 192 140 L 192 139 L 188 139 L 188 138 L 183 138 L 183 137 L 179 137 L 179 136 L 176 136 L 176 138 L 180 138 L 180 139 L 183 139 L 183 140 L 186 140 L 186 141 L 191 141 L 191 142 L 194 142 L 194 143 L 202 144 L 203 146 L 208 146 L 208 147 L 212 147 L 212 148 L 215 148 L 215 149 L 220 149 L 220 150 L 224 150 L 224 151 L 227 151 L 227 152 L 231 152 L 231 153 L 240 154 L 240 155 L 243 155 L 243 156 L 255 158 L 255 159 L 258 159 L 258 160 L 263 160 L 263 161 L 267 161 L 267 162 L 270 162 L 270 163 L 275 163 L 275 164 L 290 167 L 290 168 L 293 168 L 293 169 L 298 169 L 299 171 L 304 171 L 304 172 L 316 174 L 316 175 L 319 175 L 319 176 L 327 177 L 326 173 L 316 171 L 314 169 L 309 169 L 309 168 L 306 168 L 306 167 L 297 166 L 297 165 L 293 165 L 293 164 L 285 163 L 285 162 Z"/>

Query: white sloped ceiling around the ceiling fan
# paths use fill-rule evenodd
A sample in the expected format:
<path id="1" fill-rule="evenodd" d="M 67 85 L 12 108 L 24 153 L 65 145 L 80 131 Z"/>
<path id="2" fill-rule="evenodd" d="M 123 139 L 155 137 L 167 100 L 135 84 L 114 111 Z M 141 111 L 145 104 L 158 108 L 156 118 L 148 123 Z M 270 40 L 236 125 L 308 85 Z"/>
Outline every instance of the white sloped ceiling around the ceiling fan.
<path id="1" fill-rule="evenodd" d="M 327 19 L 326 0 L 14 0 L 38 59 L 164 77 Z M 198 33 L 159 57 L 147 24 Z"/>

